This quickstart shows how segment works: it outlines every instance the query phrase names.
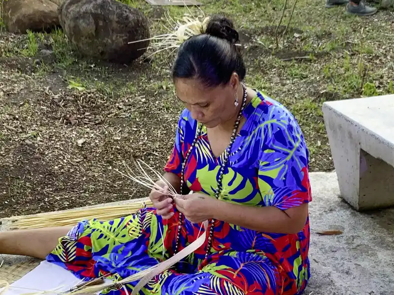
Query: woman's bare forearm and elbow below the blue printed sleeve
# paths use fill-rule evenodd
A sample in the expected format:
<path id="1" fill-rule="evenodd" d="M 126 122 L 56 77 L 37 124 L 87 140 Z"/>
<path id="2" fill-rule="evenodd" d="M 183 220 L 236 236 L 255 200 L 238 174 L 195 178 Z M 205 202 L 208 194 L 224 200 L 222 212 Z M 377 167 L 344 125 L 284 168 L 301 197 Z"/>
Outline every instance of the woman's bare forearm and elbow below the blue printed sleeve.
<path id="1" fill-rule="evenodd" d="M 250 207 L 218 201 L 213 218 L 254 231 L 296 234 L 302 230 L 308 216 L 308 205 L 282 211 L 277 207 Z"/>

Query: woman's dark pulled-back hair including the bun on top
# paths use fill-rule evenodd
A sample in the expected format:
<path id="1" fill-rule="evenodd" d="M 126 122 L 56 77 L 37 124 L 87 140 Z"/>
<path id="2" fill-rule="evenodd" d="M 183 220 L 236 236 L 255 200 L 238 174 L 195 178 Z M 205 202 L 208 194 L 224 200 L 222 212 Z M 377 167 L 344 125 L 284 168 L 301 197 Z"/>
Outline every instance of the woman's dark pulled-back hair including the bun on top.
<path id="1" fill-rule="evenodd" d="M 246 69 L 235 44 L 238 32 L 232 21 L 215 15 L 210 17 L 204 33 L 192 36 L 180 46 L 172 68 L 172 78 L 197 78 L 207 87 L 229 83 L 233 72 L 240 81 Z"/>

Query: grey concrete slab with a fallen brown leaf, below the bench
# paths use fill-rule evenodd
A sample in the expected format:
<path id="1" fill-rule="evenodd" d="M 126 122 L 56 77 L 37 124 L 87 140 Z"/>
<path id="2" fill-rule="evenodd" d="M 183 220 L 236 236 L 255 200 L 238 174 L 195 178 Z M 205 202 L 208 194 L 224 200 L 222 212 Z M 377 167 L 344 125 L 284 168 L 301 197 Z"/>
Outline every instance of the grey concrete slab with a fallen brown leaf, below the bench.
<path id="1" fill-rule="evenodd" d="M 394 208 L 357 212 L 339 198 L 335 172 L 310 178 L 312 277 L 304 294 L 394 295 Z M 330 229 L 343 234 L 316 234 Z M 4 256 L 6 263 L 16 259 L 26 258 Z"/>

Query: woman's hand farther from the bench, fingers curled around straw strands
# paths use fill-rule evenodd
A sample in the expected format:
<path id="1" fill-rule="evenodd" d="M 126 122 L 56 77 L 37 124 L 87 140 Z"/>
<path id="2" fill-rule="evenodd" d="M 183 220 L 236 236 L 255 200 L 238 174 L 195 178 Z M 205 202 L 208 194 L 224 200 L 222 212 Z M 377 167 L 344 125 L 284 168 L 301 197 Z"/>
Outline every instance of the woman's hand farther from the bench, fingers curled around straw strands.
<path id="1" fill-rule="evenodd" d="M 161 189 L 153 189 L 149 194 L 149 199 L 153 203 L 153 207 L 156 208 L 156 214 L 161 215 L 163 219 L 169 219 L 174 215 L 171 211 L 173 207 L 172 199 L 168 196 L 168 186 L 164 181 L 159 180 L 156 182 Z"/>

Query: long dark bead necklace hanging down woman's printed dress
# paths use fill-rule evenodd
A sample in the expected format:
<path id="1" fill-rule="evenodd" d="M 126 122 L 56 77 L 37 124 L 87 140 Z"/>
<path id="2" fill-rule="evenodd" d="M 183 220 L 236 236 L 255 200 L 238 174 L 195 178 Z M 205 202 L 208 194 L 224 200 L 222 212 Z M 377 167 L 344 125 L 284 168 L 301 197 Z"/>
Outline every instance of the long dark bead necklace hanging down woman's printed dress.
<path id="1" fill-rule="evenodd" d="M 237 118 L 235 120 L 235 123 L 234 123 L 234 129 L 232 131 L 232 135 L 231 135 L 231 138 L 230 138 L 230 144 L 227 146 L 227 148 L 226 148 L 226 150 L 224 152 L 223 162 L 222 162 L 222 165 L 220 166 L 220 169 L 219 169 L 219 180 L 218 180 L 218 184 L 217 184 L 217 187 L 216 187 L 216 193 L 215 193 L 215 198 L 216 199 L 219 199 L 219 195 L 220 195 L 220 193 L 222 191 L 222 180 L 223 180 L 224 170 L 225 170 L 225 167 L 226 167 L 226 165 L 227 165 L 227 163 L 229 161 L 231 147 L 232 147 L 233 143 L 235 142 L 236 133 L 237 133 L 237 130 L 238 130 L 238 127 L 239 127 L 239 123 L 240 123 L 241 118 L 242 118 L 242 112 L 243 112 L 243 110 L 245 109 L 245 106 L 246 106 L 247 90 L 246 90 L 245 85 L 243 85 L 243 84 L 242 84 L 242 89 L 243 89 L 242 104 L 241 104 L 241 107 L 239 109 L 238 116 L 237 116 Z M 185 180 L 184 179 L 185 179 L 186 163 L 187 163 L 187 161 L 189 159 L 190 154 L 192 153 L 193 148 L 196 146 L 198 138 L 201 135 L 202 126 L 203 126 L 202 124 L 199 126 L 199 128 L 197 130 L 197 133 L 196 133 L 196 137 L 193 140 L 193 143 L 192 143 L 191 147 L 189 148 L 188 152 L 186 153 L 185 159 L 184 159 L 183 164 L 182 164 L 181 186 L 180 186 L 180 190 L 181 190 L 180 193 L 181 194 L 182 194 L 182 191 L 183 191 L 183 186 L 185 185 Z M 178 224 L 178 231 L 177 231 L 177 234 L 176 234 L 174 255 L 178 251 L 178 245 L 179 245 L 180 235 L 181 235 L 181 230 L 182 230 L 182 219 L 183 219 L 183 214 L 181 212 L 179 212 L 179 224 Z M 211 221 L 209 222 L 208 245 L 207 245 L 207 249 L 206 249 L 206 252 L 205 252 L 205 258 L 207 258 L 209 256 L 209 253 L 211 251 L 212 239 L 213 239 L 213 234 L 214 234 L 214 224 L 215 224 L 215 220 L 211 219 Z"/>

